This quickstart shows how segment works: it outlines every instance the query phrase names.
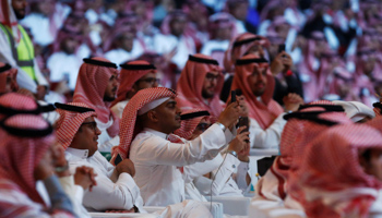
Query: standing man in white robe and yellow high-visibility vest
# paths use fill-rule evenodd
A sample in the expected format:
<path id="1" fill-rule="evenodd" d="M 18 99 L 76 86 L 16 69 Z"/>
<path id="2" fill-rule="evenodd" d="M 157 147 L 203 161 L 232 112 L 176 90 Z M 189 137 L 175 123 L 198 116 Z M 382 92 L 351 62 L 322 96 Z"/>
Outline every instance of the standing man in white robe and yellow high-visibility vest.
<path id="1" fill-rule="evenodd" d="M 35 61 L 34 47 L 17 20 L 25 16 L 25 0 L 4 0 L 0 4 L 0 61 L 17 69 L 20 87 L 34 93 L 41 100 L 48 82 Z"/>

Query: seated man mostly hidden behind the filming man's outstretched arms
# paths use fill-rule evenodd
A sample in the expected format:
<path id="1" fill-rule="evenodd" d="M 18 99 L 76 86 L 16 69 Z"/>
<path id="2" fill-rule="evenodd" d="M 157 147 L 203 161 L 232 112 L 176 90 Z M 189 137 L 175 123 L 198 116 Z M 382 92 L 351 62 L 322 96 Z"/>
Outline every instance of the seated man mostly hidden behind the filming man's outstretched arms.
<path id="1" fill-rule="evenodd" d="M 198 137 L 212 124 L 207 111 L 198 109 L 186 111 L 181 117 L 181 128 L 176 130 L 175 134 L 187 140 Z M 183 168 L 183 178 L 192 177 L 191 180 L 194 179 L 194 183 L 198 181 L 198 183 L 202 184 L 196 184 L 196 187 L 205 187 L 200 190 L 203 195 L 210 195 L 212 193 L 213 196 L 242 196 L 243 193 L 249 193 L 251 187 L 251 178 L 248 174 L 249 143 L 246 143 L 246 140 L 249 140 L 249 137 L 247 132 L 241 132 L 244 128 L 241 126 L 238 129 L 240 134 L 230 142 L 228 150 L 224 155 L 227 157 L 218 155 L 213 160 L 198 162 Z M 211 180 L 203 178 L 203 174 L 207 174 L 206 177 Z M 186 184 L 187 195 L 192 195 L 192 192 L 199 192 L 194 191 L 192 189 L 193 186 Z"/>

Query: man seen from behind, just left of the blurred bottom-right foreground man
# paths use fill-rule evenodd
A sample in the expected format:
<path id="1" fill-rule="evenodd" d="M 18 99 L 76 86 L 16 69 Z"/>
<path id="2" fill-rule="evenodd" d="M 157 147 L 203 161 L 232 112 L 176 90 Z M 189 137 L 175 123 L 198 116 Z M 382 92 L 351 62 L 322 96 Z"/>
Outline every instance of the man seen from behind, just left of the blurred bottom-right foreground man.
<path id="1" fill-rule="evenodd" d="M 287 123 L 282 134 L 278 156 L 255 186 L 255 201 L 285 201 L 296 208 L 296 202 L 288 194 L 289 178 L 300 167 L 300 157 L 306 145 L 317 135 L 334 124 L 351 123 L 344 109 L 327 100 L 303 105 L 297 112 L 284 117 Z"/>

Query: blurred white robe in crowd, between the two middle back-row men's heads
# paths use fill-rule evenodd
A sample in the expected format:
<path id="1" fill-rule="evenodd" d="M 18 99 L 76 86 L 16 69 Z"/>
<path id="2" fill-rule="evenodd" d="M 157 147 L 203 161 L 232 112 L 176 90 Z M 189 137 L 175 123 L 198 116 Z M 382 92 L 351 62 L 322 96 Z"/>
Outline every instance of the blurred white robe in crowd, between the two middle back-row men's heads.
<path id="1" fill-rule="evenodd" d="M 176 49 L 177 52 L 171 61 L 177 64 L 179 70 L 184 68 L 189 55 L 194 55 L 196 52 L 195 44 L 192 38 L 187 38 L 184 36 L 177 38 L 174 35 L 165 36 L 157 34 L 154 37 L 154 48 L 155 51 L 160 55 L 169 53 L 172 49 Z"/>

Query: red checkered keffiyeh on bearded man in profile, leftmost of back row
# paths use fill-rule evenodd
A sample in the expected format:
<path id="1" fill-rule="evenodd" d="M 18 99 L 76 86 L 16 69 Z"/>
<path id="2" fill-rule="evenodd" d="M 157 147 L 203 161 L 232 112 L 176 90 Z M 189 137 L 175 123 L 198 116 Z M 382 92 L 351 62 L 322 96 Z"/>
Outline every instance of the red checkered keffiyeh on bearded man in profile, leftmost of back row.
<path id="1" fill-rule="evenodd" d="M 104 58 L 92 58 L 92 60 L 111 63 Z M 104 101 L 104 95 L 112 75 L 118 75 L 115 68 L 83 63 L 79 71 L 73 102 L 84 102 L 93 108 L 97 113 L 97 119 L 103 123 L 107 123 L 112 117 L 114 123 L 107 129 L 111 137 L 118 135 L 119 118 L 109 109 L 111 102 Z"/>

